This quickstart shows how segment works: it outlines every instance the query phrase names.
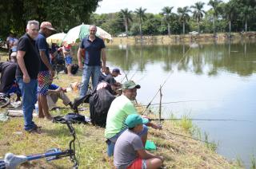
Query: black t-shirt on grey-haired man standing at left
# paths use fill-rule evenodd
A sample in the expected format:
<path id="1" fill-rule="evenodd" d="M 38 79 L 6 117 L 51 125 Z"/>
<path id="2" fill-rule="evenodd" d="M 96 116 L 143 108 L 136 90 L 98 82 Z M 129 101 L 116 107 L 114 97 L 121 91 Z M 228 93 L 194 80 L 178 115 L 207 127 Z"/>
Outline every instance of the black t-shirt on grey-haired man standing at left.
<path id="1" fill-rule="evenodd" d="M 19 39 L 18 50 L 26 52 L 23 59 L 30 79 L 37 79 L 40 69 L 40 56 L 35 41 L 27 33 Z M 22 70 L 19 66 L 16 70 L 16 77 L 23 77 Z"/>

